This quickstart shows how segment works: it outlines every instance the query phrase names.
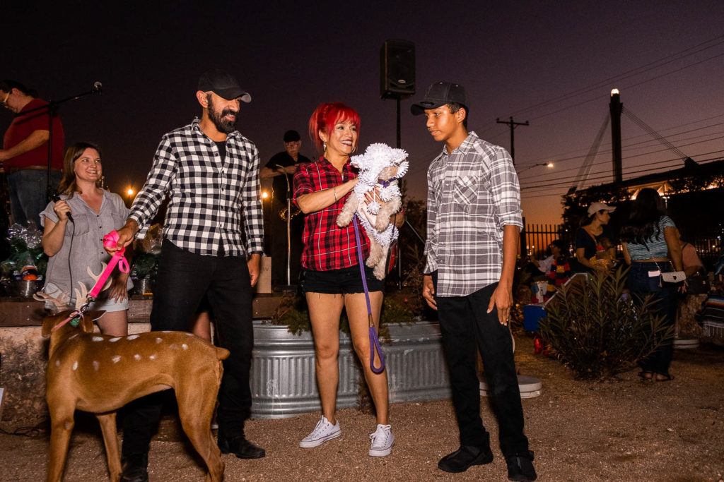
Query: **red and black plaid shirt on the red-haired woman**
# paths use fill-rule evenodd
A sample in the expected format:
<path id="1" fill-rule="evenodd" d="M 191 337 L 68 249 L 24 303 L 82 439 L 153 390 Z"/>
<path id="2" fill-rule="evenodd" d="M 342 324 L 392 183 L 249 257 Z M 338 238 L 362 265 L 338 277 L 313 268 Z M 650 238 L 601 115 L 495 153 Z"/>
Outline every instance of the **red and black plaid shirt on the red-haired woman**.
<path id="1" fill-rule="evenodd" d="M 303 194 L 333 188 L 356 177 L 349 161 L 342 173 L 324 158 L 315 163 L 302 163 L 294 174 L 294 202 Z M 353 223 L 345 228 L 337 226 L 337 215 L 348 197 L 349 194 L 340 197 L 333 205 L 305 216 L 302 266 L 307 270 L 340 270 L 359 264 Z M 360 239 L 363 257 L 367 259 L 369 239 L 363 229 L 360 229 Z"/>

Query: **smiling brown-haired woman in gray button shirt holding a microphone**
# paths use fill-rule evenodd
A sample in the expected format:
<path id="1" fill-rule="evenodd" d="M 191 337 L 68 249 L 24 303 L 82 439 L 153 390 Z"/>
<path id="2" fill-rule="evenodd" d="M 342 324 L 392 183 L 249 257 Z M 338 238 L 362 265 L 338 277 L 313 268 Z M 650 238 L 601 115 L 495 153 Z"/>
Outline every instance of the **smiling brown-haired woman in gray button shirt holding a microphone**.
<path id="1" fill-rule="evenodd" d="M 98 275 L 111 258 L 104 251 L 103 237 L 122 228 L 128 209 L 118 194 L 101 189 L 101 150 L 90 142 L 68 147 L 63 160 L 59 199 L 41 212 L 43 251 L 50 257 L 43 290 L 50 296 L 67 297 L 75 304 L 75 290 L 83 283 L 90 291 L 95 284 L 90 271 Z M 126 251 L 130 257 L 130 251 Z M 104 335 L 128 334 L 128 273 L 115 270 L 111 286 L 101 291 L 90 309 L 104 310 L 98 327 Z M 50 306 L 47 306 L 50 307 Z"/>

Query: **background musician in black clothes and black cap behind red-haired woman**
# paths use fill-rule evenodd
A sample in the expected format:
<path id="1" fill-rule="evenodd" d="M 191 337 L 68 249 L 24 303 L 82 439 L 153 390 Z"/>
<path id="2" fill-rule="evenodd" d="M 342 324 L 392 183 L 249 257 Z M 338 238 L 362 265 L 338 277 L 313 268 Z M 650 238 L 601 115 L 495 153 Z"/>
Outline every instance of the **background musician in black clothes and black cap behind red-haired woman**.
<path id="1" fill-rule="evenodd" d="M 284 133 L 284 151 L 274 154 L 259 177 L 272 178 L 271 181 L 271 285 L 279 289 L 282 285 L 295 285 L 299 281 L 302 258 L 302 232 L 304 216 L 292 204 L 290 221 L 289 259 L 290 279 L 287 282 L 287 196 L 292 185 L 292 177 L 300 163 L 311 160 L 299 153 L 302 139 L 299 132 L 290 130 Z"/>

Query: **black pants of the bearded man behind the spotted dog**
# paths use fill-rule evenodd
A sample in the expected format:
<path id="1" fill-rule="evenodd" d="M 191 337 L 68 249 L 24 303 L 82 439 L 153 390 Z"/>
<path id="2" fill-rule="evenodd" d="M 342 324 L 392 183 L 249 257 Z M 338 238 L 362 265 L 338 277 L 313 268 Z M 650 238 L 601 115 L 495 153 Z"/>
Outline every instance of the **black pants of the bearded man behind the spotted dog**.
<path id="1" fill-rule="evenodd" d="M 164 240 L 153 293 L 151 330 L 187 331 L 204 293 L 214 310 L 224 360 L 217 420 L 227 436 L 243 434 L 251 410 L 249 369 L 253 347 L 251 285 L 245 257 L 201 256 Z M 148 453 L 161 416 L 161 394 L 129 405 L 123 429 L 124 457 Z"/>

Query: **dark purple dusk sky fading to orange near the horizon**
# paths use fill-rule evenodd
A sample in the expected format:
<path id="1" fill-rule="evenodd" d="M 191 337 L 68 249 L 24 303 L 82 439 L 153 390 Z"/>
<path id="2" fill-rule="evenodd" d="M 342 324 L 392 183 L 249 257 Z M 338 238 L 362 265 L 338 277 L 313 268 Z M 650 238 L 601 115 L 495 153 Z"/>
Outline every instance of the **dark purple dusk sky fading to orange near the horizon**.
<path id="1" fill-rule="evenodd" d="M 62 106 L 69 145 L 98 142 L 106 184 L 119 192 L 146 179 L 162 134 L 200 115 L 199 74 L 221 67 L 251 93 L 238 128 L 262 165 L 303 134 L 321 102 L 361 115 L 360 144 L 395 145 L 395 102 L 379 98 L 384 40 L 416 45 L 417 94 L 437 80 L 468 90 L 469 127 L 506 149 L 515 129 L 527 223 L 560 221 L 568 191 L 604 119 L 610 90 L 684 154 L 724 157 L 724 2 L 701 1 L 346 1 L 6 2 L 0 77 L 59 100 L 103 83 L 102 95 Z M 88 5 L 88 7 L 86 7 Z M 114 5 L 117 5 L 114 2 Z M 158 5 L 158 7 L 153 7 Z M 409 192 L 424 199 L 429 161 L 442 149 L 424 117 L 402 102 Z M 12 120 L 0 112 L 4 132 Z M 624 116 L 623 176 L 683 161 Z M 555 168 L 536 163 L 552 161 Z M 524 171 L 523 171 L 524 170 Z M 606 132 L 586 185 L 611 181 Z"/>

